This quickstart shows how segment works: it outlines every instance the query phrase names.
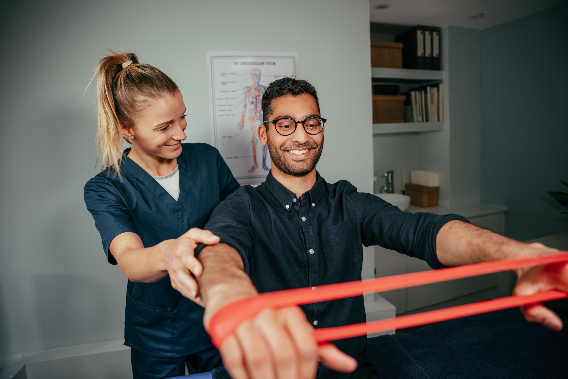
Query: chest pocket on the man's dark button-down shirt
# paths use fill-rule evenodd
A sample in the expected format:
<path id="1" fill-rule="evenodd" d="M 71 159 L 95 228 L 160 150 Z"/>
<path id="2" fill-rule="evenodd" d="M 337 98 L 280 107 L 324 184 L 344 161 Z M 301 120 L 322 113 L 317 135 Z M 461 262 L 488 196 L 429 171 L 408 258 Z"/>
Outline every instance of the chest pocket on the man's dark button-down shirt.
<path id="1" fill-rule="evenodd" d="M 332 275 L 344 273 L 349 266 L 360 260 L 350 219 L 322 230 L 321 244 L 329 273 Z"/>

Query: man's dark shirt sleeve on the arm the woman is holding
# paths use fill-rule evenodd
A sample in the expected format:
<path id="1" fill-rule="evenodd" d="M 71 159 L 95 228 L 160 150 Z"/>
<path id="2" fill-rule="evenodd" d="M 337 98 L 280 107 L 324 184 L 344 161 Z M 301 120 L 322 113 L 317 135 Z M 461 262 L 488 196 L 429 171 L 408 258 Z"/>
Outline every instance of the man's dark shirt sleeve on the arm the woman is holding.
<path id="1" fill-rule="evenodd" d="M 239 189 L 215 207 L 209 222 L 205 225 L 206 230 L 210 230 L 221 238 L 220 242 L 228 244 L 239 252 L 247 274 L 249 273 L 248 257 L 252 249 L 249 204 L 249 196 L 245 189 Z M 206 245 L 200 243 L 195 248 L 196 257 L 204 247 Z"/>

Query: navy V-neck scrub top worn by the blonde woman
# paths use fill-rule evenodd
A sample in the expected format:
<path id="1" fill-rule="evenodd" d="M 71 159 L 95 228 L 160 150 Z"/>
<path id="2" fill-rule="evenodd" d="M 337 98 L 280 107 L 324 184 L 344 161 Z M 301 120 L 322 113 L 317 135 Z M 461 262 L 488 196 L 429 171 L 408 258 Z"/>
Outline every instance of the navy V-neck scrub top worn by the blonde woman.
<path id="1" fill-rule="evenodd" d="M 130 149 L 124 151 L 128 153 Z M 108 251 L 121 233 L 140 236 L 144 247 L 203 228 L 215 207 L 239 188 L 217 149 L 182 144 L 179 198 L 174 199 L 139 165 L 123 156 L 121 177 L 107 170 L 85 185 L 85 203 Z M 154 283 L 128 281 L 124 344 L 154 357 L 177 357 L 210 347 L 203 327 L 203 308 L 172 288 L 169 276 Z"/>

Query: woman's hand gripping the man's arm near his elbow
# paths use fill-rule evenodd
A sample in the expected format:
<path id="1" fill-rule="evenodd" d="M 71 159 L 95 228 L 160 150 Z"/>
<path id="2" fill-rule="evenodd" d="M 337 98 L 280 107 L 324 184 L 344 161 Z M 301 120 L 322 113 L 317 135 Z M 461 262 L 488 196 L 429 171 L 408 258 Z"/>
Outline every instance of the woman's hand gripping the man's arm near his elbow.
<path id="1" fill-rule="evenodd" d="M 160 244 L 160 251 L 165 269 L 168 271 L 172 287 L 186 298 L 203 306 L 199 298 L 199 288 L 195 277 L 201 276 L 203 266 L 194 256 L 194 250 L 199 243 L 216 244 L 219 237 L 208 230 L 191 228 L 176 239 L 165 240 Z"/>

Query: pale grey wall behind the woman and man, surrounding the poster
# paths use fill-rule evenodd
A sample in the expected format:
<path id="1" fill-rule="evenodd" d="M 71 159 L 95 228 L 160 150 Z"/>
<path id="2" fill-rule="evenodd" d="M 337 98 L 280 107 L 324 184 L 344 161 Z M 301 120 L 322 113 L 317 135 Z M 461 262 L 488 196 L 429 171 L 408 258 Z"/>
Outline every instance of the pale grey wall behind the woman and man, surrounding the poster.
<path id="1" fill-rule="evenodd" d="M 106 263 L 83 203 L 96 173 L 95 87 L 82 94 L 105 46 L 169 74 L 187 140 L 202 142 L 207 51 L 298 51 L 329 120 L 319 171 L 372 190 L 366 0 L 24 1 L 2 19 L 0 357 L 123 336 L 126 277 Z"/>

